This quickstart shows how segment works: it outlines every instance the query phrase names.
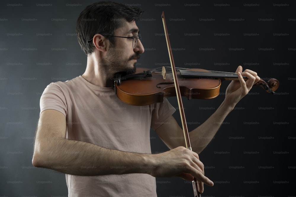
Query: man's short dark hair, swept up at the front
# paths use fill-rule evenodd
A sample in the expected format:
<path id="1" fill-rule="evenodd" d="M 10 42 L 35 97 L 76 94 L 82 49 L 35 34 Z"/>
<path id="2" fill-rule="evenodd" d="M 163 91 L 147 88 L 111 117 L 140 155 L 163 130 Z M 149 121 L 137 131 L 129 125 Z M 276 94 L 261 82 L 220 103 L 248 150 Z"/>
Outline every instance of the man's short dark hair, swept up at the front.
<path id="1" fill-rule="evenodd" d="M 137 21 L 143 11 L 137 7 L 126 6 L 112 1 L 100 1 L 89 6 L 79 14 L 76 22 L 76 34 L 81 49 L 86 55 L 94 52 L 94 45 L 87 41 L 95 34 L 113 35 L 115 30 L 127 22 Z M 111 44 L 114 37 L 107 36 Z"/>

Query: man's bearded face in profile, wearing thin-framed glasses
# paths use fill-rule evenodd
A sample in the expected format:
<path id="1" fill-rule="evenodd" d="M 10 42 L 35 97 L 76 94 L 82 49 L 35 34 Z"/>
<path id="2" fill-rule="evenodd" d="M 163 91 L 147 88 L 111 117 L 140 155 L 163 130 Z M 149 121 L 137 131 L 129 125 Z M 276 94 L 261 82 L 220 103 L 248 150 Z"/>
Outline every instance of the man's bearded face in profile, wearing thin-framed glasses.
<path id="1" fill-rule="evenodd" d="M 133 37 L 139 33 L 136 22 L 123 22 L 123 26 L 116 29 L 114 36 Z M 136 47 L 133 48 L 133 39 L 115 38 L 115 45 L 107 49 L 107 55 L 104 59 L 110 72 L 127 72 L 132 74 L 136 71 L 136 62 L 140 58 L 140 54 L 144 53 L 144 47 L 138 39 Z"/>

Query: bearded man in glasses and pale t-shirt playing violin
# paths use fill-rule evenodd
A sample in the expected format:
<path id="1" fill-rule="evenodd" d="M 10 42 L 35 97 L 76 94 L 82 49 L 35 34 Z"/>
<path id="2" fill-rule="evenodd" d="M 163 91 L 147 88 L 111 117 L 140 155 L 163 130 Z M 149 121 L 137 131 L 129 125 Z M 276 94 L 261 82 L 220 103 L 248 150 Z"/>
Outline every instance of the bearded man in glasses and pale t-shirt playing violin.
<path id="1" fill-rule="evenodd" d="M 41 96 L 32 163 L 65 173 L 69 196 L 156 196 L 155 177 L 173 176 L 196 177 L 202 193 L 203 183 L 213 182 L 204 176 L 197 154 L 210 140 L 200 137 L 211 139 L 221 125 L 214 122 L 223 122 L 259 80 L 239 66 L 239 81 L 228 86 L 221 106 L 190 132 L 193 151 L 184 148 L 183 131 L 167 100 L 146 107 L 127 105 L 112 88 L 115 73 L 133 73 L 144 52 L 135 22 L 141 13 L 110 1 L 87 6 L 76 25 L 87 55 L 86 71 L 49 84 Z M 150 127 L 170 151 L 151 154 Z"/>

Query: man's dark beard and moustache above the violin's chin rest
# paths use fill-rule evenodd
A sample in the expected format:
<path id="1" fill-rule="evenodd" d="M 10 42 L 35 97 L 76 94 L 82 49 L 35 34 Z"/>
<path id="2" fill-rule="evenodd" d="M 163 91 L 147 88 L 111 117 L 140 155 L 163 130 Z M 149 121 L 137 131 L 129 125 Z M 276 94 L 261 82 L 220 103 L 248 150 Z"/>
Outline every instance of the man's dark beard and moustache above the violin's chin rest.
<path id="1" fill-rule="evenodd" d="M 133 59 L 139 59 L 141 54 L 139 52 L 136 52 L 125 61 L 114 49 L 115 48 L 111 48 L 111 50 L 108 52 L 106 58 L 102 63 L 107 73 L 115 74 L 121 72 L 124 73 L 124 75 L 134 74 L 136 72 L 136 63 L 132 64 L 129 61 Z"/>

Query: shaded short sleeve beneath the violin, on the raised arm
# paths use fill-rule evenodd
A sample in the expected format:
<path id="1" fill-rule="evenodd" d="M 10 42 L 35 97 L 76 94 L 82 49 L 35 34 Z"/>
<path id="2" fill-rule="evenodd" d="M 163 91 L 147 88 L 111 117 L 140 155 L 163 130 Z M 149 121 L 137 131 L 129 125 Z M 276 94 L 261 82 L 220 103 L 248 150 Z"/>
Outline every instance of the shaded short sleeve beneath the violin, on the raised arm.
<path id="1" fill-rule="evenodd" d="M 163 100 L 163 103 L 156 103 L 153 106 L 151 128 L 154 130 L 160 127 L 165 121 L 173 115 L 176 109 L 168 102 L 167 99 Z"/>

